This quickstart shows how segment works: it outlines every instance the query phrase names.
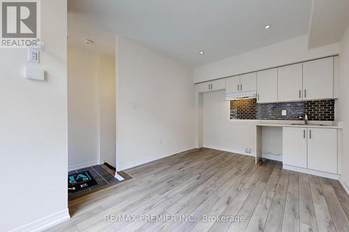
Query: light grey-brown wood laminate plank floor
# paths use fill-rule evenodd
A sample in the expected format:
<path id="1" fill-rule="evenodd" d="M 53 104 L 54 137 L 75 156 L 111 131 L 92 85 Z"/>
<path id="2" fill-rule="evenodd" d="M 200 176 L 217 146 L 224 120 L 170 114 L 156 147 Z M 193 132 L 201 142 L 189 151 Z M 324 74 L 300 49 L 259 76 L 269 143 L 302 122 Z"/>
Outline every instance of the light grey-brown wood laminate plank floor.
<path id="1" fill-rule="evenodd" d="M 283 170 L 280 162 L 254 164 L 254 157 L 202 148 L 126 172 L 133 179 L 70 201 L 72 218 L 47 231 L 349 231 L 340 183 Z M 204 222 L 203 215 L 243 219 Z"/>

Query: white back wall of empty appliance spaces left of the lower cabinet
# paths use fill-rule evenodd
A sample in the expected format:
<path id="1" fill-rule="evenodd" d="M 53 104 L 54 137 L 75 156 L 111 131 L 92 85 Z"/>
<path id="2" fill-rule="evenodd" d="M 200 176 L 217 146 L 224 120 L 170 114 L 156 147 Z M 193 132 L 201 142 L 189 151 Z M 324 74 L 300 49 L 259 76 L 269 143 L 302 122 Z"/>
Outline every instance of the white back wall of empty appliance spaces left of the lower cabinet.
<path id="1" fill-rule="evenodd" d="M 255 155 L 255 123 L 265 121 L 230 120 L 230 101 L 225 100 L 225 91 L 202 93 L 202 118 L 202 146 Z M 281 161 L 282 128 L 263 127 L 262 137 L 262 157 Z M 251 148 L 251 154 L 245 152 L 246 148 Z"/>

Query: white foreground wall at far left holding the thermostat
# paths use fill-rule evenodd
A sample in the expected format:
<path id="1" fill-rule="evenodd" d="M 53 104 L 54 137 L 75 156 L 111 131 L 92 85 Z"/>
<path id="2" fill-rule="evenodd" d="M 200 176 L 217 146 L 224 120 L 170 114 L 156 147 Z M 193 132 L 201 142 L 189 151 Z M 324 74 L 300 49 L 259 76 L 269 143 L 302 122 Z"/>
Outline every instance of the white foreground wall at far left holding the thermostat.
<path id="1" fill-rule="evenodd" d="M 0 231 L 68 219 L 66 9 L 41 1 L 39 64 L 27 49 L 0 49 Z M 26 65 L 45 69 L 45 82 L 23 79 Z"/>

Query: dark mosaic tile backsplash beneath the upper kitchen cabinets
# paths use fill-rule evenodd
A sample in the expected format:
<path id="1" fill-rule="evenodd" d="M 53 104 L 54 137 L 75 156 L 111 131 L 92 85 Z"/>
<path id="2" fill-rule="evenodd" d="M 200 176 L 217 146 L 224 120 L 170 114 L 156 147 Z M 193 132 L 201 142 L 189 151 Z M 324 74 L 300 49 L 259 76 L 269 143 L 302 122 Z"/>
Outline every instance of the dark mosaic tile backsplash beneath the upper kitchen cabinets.
<path id="1" fill-rule="evenodd" d="M 281 115 L 283 109 L 286 116 Z M 334 100 L 262 104 L 255 98 L 230 101 L 230 119 L 299 120 L 304 114 L 309 121 L 334 121 Z"/>

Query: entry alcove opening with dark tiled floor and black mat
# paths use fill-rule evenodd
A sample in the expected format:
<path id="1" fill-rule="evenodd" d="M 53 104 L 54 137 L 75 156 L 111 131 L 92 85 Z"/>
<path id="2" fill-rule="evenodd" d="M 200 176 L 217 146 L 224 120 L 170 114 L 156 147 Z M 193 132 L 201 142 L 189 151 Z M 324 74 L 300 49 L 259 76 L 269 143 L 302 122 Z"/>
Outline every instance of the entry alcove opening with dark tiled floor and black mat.
<path id="1" fill-rule="evenodd" d="M 114 47 L 114 35 L 68 10 L 69 201 L 131 178 L 115 169 Z"/>

